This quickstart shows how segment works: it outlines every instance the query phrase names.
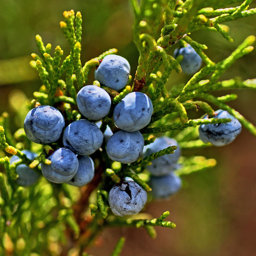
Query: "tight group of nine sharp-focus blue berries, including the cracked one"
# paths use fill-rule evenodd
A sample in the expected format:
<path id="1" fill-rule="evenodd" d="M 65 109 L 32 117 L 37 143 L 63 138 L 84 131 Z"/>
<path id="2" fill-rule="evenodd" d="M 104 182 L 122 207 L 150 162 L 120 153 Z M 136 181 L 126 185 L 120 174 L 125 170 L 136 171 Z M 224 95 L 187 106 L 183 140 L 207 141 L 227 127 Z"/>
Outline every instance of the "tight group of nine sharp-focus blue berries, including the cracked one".
<path id="1" fill-rule="evenodd" d="M 95 79 L 101 85 L 121 90 L 127 84 L 129 73 L 128 61 L 111 54 L 100 62 L 95 71 Z M 30 110 L 25 117 L 24 131 L 32 142 L 45 145 L 58 141 L 63 145 L 48 157 L 50 165 L 41 163 L 42 174 L 47 180 L 78 187 L 89 183 L 94 177 L 94 162 L 90 155 L 102 146 L 105 133 L 105 138 L 108 137 L 106 152 L 110 159 L 132 163 L 141 156 L 144 138 L 139 130 L 150 122 L 153 113 L 152 102 L 146 94 L 131 92 L 115 106 L 113 120 L 120 130 L 114 134 L 110 127 L 103 134 L 99 129 L 100 122 L 94 122 L 110 112 L 111 98 L 103 88 L 97 85 L 84 86 L 77 94 L 77 107 L 85 118 L 74 121 L 67 127 L 61 112 L 48 105 Z M 24 153 L 30 157 L 28 152 Z M 31 157 L 33 158 L 35 156 Z M 30 169 L 31 171 L 33 170 Z M 35 181 L 36 179 L 33 180 Z M 26 183 L 30 184 L 32 182 Z M 130 200 L 116 195 L 119 193 L 125 193 Z M 137 213 L 144 207 L 146 200 L 146 191 L 131 180 L 110 190 L 110 207 L 116 215 Z"/>

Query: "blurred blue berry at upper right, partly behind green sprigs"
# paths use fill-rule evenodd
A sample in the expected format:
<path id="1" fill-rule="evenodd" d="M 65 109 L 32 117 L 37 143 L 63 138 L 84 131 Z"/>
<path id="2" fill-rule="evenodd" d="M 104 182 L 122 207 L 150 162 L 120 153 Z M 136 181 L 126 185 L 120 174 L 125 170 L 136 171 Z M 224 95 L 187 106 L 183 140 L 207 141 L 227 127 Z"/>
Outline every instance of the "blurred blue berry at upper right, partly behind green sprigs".
<path id="1" fill-rule="evenodd" d="M 173 57 L 177 58 L 179 55 L 183 55 L 183 60 L 180 63 L 183 73 L 194 74 L 200 69 L 202 59 L 191 45 L 175 49 Z"/>

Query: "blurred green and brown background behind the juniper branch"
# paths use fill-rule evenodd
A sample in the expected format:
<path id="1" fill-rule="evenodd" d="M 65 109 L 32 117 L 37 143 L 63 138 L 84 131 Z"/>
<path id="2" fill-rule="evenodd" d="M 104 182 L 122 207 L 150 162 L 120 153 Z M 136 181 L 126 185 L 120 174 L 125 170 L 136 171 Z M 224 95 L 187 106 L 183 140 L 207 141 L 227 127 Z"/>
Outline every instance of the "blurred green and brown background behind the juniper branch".
<path id="1" fill-rule="evenodd" d="M 65 10 L 82 13 L 82 64 L 103 51 L 117 48 L 118 54 L 130 62 L 134 77 L 138 52 L 132 42 L 133 14 L 128 0 L 1 0 L 0 6 L 0 113 L 8 111 L 14 118 L 15 102 L 14 106 L 10 104 L 13 92 L 19 92 L 19 100 L 25 104 L 20 92 L 32 99 L 33 91 L 41 85 L 37 73 L 29 66 L 30 54 L 37 53 L 37 34 L 45 44 L 51 43 L 53 49 L 60 45 L 64 54 L 68 54 L 68 43 L 59 26 Z M 251 8 L 255 7 L 254 2 Z M 191 37 L 206 44 L 206 54 L 217 62 L 229 56 L 245 37 L 256 36 L 255 24 L 256 16 L 226 23 L 230 26 L 233 43 L 207 30 L 195 32 Z M 256 77 L 256 50 L 237 61 L 221 79 L 235 76 Z M 168 83 L 170 86 L 186 83 L 189 78 L 173 73 Z M 256 91 L 230 90 L 216 95 L 231 92 L 239 97 L 230 105 L 256 124 Z M 190 114 L 199 117 L 202 113 Z M 13 122 L 13 131 L 16 128 Z M 95 256 L 110 255 L 123 235 L 127 242 L 122 256 L 256 255 L 255 144 L 256 138 L 243 129 L 229 146 L 183 152 L 184 155 L 216 158 L 218 166 L 183 177 L 183 189 L 179 194 L 147 206 L 147 212 L 153 217 L 169 210 L 170 220 L 177 224 L 176 229 L 158 228 L 154 240 L 143 229 L 107 229 L 90 252 Z"/>

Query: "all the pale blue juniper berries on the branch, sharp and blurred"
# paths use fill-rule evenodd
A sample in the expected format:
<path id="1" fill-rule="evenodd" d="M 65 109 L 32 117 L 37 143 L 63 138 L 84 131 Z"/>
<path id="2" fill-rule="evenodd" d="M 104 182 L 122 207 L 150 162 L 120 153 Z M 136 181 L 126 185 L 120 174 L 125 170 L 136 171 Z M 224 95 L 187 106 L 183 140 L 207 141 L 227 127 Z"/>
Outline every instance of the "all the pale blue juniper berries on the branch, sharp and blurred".
<path id="1" fill-rule="evenodd" d="M 190 56 L 190 61 L 197 57 L 195 51 L 190 48 L 176 51 L 175 54 L 183 54 L 183 61 L 186 61 L 187 56 Z M 195 69 L 193 70 L 195 72 Z M 119 91 L 127 84 L 129 74 L 128 61 L 121 56 L 110 54 L 100 62 L 95 71 L 95 79 L 101 85 Z M 148 125 L 153 113 L 152 102 L 146 94 L 131 92 L 114 107 L 113 121 L 119 128 L 114 134 L 108 126 L 103 134 L 99 128 L 101 121 L 95 122 L 107 116 L 111 109 L 110 95 L 103 88 L 97 85 L 84 86 L 77 94 L 77 107 L 85 118 L 74 121 L 67 127 L 61 112 L 52 106 L 39 106 L 26 115 L 24 131 L 32 142 L 45 145 L 58 141 L 59 145 L 62 144 L 62 147 L 49 156 L 50 165 L 41 164 L 42 174 L 47 180 L 78 187 L 89 183 L 94 177 L 94 162 L 90 155 L 100 149 L 105 137 L 108 157 L 125 164 L 133 163 L 140 156 L 145 158 L 168 146 L 177 146 L 173 154 L 153 160 L 147 169 L 151 173 L 149 185 L 155 198 L 169 197 L 181 188 L 181 179 L 174 173 L 179 167 L 177 162 L 181 156 L 177 142 L 162 136 L 144 146 L 144 138 L 139 130 Z M 215 146 L 223 146 L 240 133 L 241 124 L 223 110 L 216 112 L 216 118 L 231 118 L 232 122 L 201 125 L 199 138 Z M 29 151 L 24 150 L 24 153 L 29 159 L 35 158 Z M 15 156 L 11 158 L 11 162 L 16 160 L 18 158 Z M 21 185 L 31 185 L 39 177 L 25 165 L 19 165 L 17 172 L 17 182 Z M 110 208 L 118 216 L 138 213 L 146 201 L 146 191 L 130 178 L 116 184 L 109 193 Z"/>

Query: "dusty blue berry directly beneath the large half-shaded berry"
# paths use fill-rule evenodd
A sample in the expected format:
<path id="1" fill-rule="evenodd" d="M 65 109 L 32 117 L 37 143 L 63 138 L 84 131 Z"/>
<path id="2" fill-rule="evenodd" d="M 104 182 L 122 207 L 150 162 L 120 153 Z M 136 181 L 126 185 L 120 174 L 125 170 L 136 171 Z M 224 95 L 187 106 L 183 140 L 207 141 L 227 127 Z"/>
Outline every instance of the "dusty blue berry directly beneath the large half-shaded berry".
<path id="1" fill-rule="evenodd" d="M 106 151 L 113 161 L 132 163 L 140 157 L 143 147 L 144 138 L 140 132 L 121 130 L 109 138 Z"/>

